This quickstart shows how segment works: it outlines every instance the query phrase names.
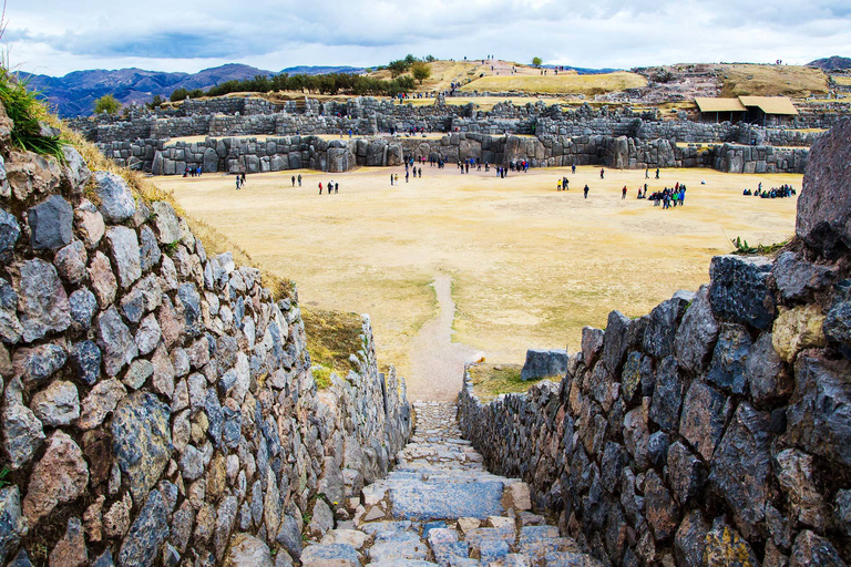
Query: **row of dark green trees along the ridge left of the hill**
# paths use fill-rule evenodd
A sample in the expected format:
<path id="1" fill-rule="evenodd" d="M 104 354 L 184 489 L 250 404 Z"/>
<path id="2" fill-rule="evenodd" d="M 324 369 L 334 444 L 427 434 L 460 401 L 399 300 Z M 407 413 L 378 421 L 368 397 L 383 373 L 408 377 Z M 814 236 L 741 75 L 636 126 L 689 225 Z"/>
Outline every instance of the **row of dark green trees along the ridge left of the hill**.
<path id="1" fill-rule="evenodd" d="M 420 81 L 422 84 L 422 81 Z M 222 96 L 229 93 L 249 92 L 268 93 L 275 91 L 299 91 L 319 94 L 351 94 L 356 96 L 378 95 L 396 96 L 399 93 L 416 89 L 412 76 L 398 76 L 392 80 L 375 79 L 351 73 L 328 73 L 321 75 L 306 75 L 287 73 L 267 76 L 257 75 L 245 81 L 227 81 L 212 86 L 206 91 L 201 89 L 177 89 L 171 95 L 171 101 L 185 99 L 198 99 L 201 96 Z"/>

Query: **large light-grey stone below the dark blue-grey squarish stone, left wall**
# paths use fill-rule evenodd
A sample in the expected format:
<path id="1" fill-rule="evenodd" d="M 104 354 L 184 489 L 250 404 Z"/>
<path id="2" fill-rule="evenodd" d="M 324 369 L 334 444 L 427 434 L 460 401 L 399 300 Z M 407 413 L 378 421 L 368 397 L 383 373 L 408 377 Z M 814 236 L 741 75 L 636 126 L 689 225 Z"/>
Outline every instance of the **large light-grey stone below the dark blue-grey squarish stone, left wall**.
<path id="1" fill-rule="evenodd" d="M 57 269 L 38 258 L 14 266 L 18 319 L 23 340 L 32 342 L 71 326 L 71 306 Z"/>

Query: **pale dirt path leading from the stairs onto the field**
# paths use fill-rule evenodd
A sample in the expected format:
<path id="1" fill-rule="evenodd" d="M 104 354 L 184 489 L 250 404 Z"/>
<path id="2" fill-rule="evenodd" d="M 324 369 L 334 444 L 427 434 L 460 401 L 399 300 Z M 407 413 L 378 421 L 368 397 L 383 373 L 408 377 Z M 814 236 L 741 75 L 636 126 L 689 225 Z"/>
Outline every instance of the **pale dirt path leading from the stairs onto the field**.
<path id="1" fill-rule="evenodd" d="M 438 276 L 431 287 L 438 296 L 439 311 L 413 338 L 411 364 L 418 379 L 408 381 L 408 399 L 452 401 L 461 390 L 464 363 L 478 360 L 482 353 L 452 342 L 455 319 L 452 279 Z"/>

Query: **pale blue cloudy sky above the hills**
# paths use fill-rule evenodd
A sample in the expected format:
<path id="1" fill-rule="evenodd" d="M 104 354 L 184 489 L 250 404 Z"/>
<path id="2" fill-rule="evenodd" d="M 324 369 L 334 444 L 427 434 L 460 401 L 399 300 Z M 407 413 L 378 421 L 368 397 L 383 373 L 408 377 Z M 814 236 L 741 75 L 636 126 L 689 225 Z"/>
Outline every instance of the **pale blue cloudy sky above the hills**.
<path id="1" fill-rule="evenodd" d="M 849 0 L 8 0 L 20 70 L 370 66 L 413 53 L 575 66 L 851 56 Z"/>

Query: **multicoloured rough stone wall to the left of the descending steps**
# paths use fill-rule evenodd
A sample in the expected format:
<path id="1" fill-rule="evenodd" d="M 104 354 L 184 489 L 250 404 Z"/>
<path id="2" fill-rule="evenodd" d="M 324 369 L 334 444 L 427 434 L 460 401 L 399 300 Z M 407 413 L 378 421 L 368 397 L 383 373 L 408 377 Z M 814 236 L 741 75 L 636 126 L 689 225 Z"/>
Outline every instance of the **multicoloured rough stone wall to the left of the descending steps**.
<path id="1" fill-rule="evenodd" d="M 74 150 L 11 151 L 11 126 L 0 114 L 0 561 L 293 565 L 322 528 L 305 520 L 350 517 L 410 433 L 369 320 L 358 371 L 317 391 L 297 296 Z"/>

